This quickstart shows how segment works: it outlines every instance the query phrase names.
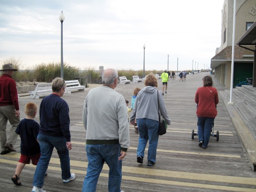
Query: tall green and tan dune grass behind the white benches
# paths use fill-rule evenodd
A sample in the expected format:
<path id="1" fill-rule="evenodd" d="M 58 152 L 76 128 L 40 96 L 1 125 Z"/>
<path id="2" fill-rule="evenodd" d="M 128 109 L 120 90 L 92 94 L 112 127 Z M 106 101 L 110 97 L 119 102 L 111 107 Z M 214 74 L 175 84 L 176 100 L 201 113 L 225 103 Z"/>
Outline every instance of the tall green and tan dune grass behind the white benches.
<path id="1" fill-rule="evenodd" d="M 13 74 L 13 78 L 16 82 L 51 82 L 54 78 L 60 77 L 60 62 L 49 62 L 49 63 L 38 63 L 33 67 L 25 67 L 25 64 L 22 63 L 22 60 L 15 59 L 11 57 L 9 59 L 2 60 L 0 66 L 5 63 L 12 63 L 15 69 L 19 71 Z M 129 80 L 133 80 L 133 76 L 138 75 L 140 78 L 143 78 L 143 70 L 135 71 L 133 69 L 120 69 L 118 71 L 118 76 L 125 76 Z M 63 64 L 63 72 L 65 80 L 74 80 L 76 77 L 85 77 L 86 74 L 90 74 L 92 80 L 99 80 L 100 74 L 95 69 L 95 67 L 84 67 L 83 70 L 80 70 L 78 67 L 69 65 L 69 63 Z M 163 71 L 145 71 L 145 75 L 153 72 L 162 73 Z"/>

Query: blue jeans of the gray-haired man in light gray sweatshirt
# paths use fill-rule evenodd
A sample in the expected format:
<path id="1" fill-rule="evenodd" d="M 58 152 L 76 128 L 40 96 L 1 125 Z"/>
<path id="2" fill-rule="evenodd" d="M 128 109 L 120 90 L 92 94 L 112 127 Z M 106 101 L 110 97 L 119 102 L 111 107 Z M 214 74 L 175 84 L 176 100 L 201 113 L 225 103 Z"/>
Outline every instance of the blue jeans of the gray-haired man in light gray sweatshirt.
<path id="1" fill-rule="evenodd" d="M 86 145 L 88 166 L 84 179 L 83 192 L 95 192 L 104 162 L 109 166 L 109 192 L 120 192 L 122 181 L 122 160 L 118 160 L 121 153 L 119 144 Z"/>

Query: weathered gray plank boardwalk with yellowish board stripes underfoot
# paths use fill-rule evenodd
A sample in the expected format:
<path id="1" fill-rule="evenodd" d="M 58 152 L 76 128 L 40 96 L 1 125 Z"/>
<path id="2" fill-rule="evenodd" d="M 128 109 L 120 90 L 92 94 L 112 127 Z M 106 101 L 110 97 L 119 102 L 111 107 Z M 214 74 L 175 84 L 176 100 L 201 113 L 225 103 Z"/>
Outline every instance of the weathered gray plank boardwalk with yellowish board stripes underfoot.
<path id="1" fill-rule="evenodd" d="M 256 172 L 253 172 L 249 165 L 238 133 L 221 97 L 217 105 L 218 116 L 214 121 L 214 131 L 220 132 L 220 140 L 216 141 L 216 138 L 211 137 L 208 148 L 202 149 L 198 146 L 198 136 L 194 136 L 194 140 L 191 139 L 192 129 L 197 129 L 194 96 L 196 89 L 202 86 L 202 78 L 205 75 L 208 73 L 187 75 L 186 82 L 180 82 L 178 78 L 169 80 L 168 94 L 164 95 L 164 100 L 171 125 L 168 127 L 167 134 L 159 138 L 154 166 L 148 167 L 146 163 L 136 162 L 138 134 L 134 132 L 133 125 L 130 125 L 131 144 L 127 156 L 123 160 L 122 190 L 125 192 L 256 192 Z M 158 89 L 161 90 L 161 80 L 158 82 Z M 131 102 L 135 87 L 143 88 L 144 84 L 143 82 L 118 84 L 115 90 Z M 47 192 L 82 191 L 87 167 L 82 108 L 88 90 L 63 96 L 70 108 L 71 141 L 73 143 L 70 158 L 71 169 L 76 174 L 76 179 L 66 184 L 62 183 L 60 161 L 56 150 L 54 150 L 47 170 L 48 176 L 45 177 L 44 190 Z M 40 105 L 41 100 L 42 98 L 20 97 L 20 110 L 24 111 L 25 103 L 29 101 Z M 24 113 L 22 113 L 21 118 L 24 117 Z M 36 120 L 39 120 L 38 117 Z M 0 155 L 0 191 L 28 192 L 32 189 L 35 170 L 33 165 L 25 166 L 21 175 L 22 186 L 15 186 L 11 181 L 20 157 L 19 142 L 18 139 L 15 146 L 17 152 Z M 146 161 L 147 151 L 145 152 Z M 98 180 L 97 191 L 107 192 L 107 183 L 108 167 L 105 165 Z"/>

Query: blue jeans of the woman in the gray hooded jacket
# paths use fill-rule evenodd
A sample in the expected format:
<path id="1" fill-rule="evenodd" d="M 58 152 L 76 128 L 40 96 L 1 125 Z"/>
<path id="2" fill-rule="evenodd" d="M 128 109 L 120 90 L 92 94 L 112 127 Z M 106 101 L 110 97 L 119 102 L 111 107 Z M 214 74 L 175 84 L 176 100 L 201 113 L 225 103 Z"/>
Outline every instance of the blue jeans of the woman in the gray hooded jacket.
<path id="1" fill-rule="evenodd" d="M 158 128 L 159 122 L 151 119 L 137 119 L 137 125 L 139 128 L 139 144 L 137 149 L 137 156 L 144 157 L 144 151 L 149 140 L 149 150 L 147 154 L 147 160 L 156 162 L 156 149 L 158 144 Z"/>

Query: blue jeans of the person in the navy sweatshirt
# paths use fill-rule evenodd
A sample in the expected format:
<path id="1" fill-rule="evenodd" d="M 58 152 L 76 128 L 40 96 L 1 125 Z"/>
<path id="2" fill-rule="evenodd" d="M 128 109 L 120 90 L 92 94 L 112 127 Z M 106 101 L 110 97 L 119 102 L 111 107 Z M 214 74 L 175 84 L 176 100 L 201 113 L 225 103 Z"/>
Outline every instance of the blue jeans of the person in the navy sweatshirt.
<path id="1" fill-rule="evenodd" d="M 53 148 L 55 147 L 59 158 L 62 179 L 69 179 L 70 174 L 70 159 L 69 150 L 67 149 L 67 140 L 64 136 L 53 137 L 43 134 L 38 134 L 37 139 L 41 149 L 41 156 L 34 172 L 33 186 L 43 187 L 44 185 L 44 174 L 48 168 L 49 161 L 51 159 Z"/>

